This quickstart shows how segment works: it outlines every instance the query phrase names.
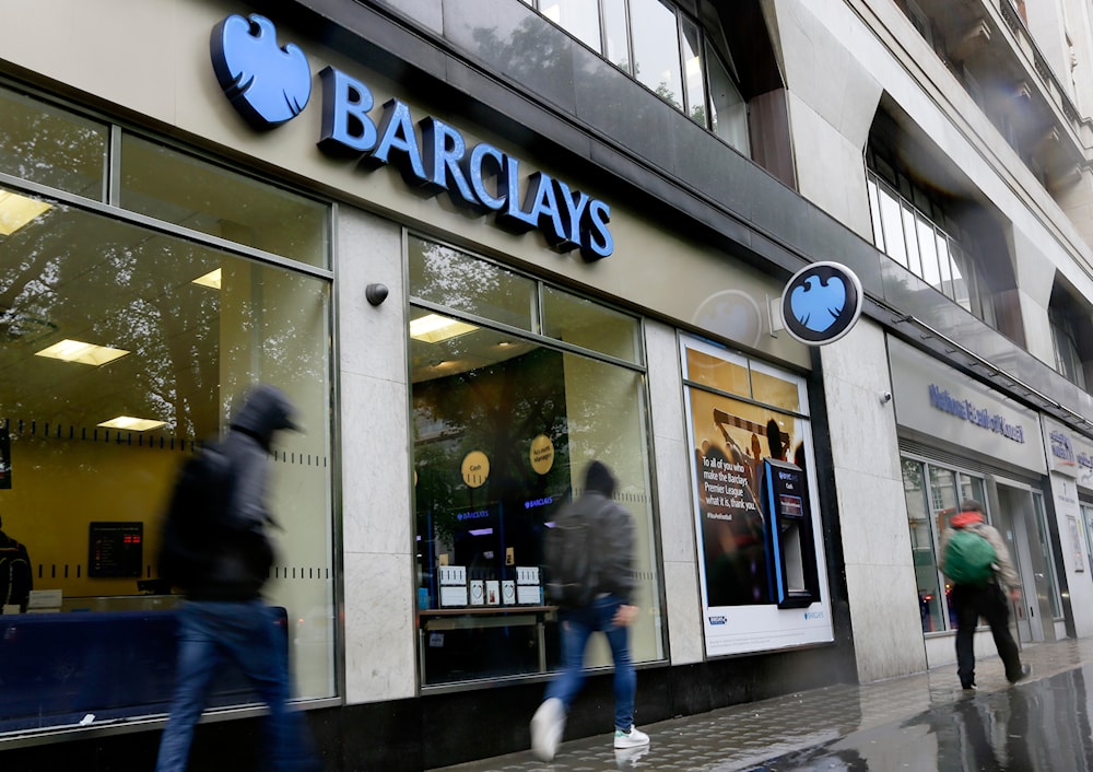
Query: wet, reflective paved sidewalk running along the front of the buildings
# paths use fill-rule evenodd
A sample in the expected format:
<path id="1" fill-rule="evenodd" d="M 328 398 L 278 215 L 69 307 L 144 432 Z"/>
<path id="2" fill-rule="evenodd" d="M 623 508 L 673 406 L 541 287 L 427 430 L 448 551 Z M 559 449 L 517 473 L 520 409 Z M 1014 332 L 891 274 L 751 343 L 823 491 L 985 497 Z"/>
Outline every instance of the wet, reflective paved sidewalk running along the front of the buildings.
<path id="1" fill-rule="evenodd" d="M 971 692 L 947 665 L 640 725 L 647 749 L 614 751 L 603 734 L 551 763 L 524 751 L 443 772 L 1093 772 L 1093 640 L 1026 645 L 1022 659 L 1033 671 L 1016 686 L 985 657 Z"/>

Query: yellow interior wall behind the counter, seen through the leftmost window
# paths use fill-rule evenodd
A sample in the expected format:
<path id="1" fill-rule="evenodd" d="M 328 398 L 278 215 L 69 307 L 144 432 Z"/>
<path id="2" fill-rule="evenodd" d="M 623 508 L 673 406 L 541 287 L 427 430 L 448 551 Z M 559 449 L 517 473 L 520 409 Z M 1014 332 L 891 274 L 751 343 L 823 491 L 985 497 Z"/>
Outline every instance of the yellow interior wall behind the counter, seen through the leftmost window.
<path id="1" fill-rule="evenodd" d="M 0 490 L 3 530 L 26 546 L 35 589 L 60 589 L 64 597 L 134 595 L 136 578 L 87 576 L 90 524 L 143 523 L 143 575 L 154 576 L 161 513 L 186 454 L 178 443 L 160 449 L 158 438 L 150 447 L 150 437 L 137 434 L 122 435 L 119 444 L 117 432 L 106 441 L 102 429 L 97 441 L 69 440 L 68 433 L 66 426 L 66 438 L 46 438 L 11 428 L 12 488 Z"/>

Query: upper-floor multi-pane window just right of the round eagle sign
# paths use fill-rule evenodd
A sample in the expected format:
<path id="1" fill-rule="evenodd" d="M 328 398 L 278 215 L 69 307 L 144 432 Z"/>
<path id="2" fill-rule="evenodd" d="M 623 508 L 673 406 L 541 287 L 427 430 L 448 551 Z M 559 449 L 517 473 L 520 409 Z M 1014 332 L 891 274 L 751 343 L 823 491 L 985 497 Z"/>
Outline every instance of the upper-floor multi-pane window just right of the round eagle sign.
<path id="1" fill-rule="evenodd" d="M 866 164 L 873 244 L 995 327 L 994 303 L 979 267 L 976 241 L 947 211 L 948 202 L 873 147 L 866 152 Z"/>

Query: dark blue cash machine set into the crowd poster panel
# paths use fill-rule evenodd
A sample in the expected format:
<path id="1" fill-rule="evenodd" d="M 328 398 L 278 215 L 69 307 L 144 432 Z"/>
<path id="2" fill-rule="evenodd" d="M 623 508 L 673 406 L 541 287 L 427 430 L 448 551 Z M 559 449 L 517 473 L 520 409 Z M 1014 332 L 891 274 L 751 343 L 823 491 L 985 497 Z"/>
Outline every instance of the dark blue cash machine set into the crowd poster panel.
<path id="1" fill-rule="evenodd" d="M 820 577 L 804 470 L 764 458 L 760 492 L 771 599 L 778 608 L 807 608 L 820 599 Z"/>

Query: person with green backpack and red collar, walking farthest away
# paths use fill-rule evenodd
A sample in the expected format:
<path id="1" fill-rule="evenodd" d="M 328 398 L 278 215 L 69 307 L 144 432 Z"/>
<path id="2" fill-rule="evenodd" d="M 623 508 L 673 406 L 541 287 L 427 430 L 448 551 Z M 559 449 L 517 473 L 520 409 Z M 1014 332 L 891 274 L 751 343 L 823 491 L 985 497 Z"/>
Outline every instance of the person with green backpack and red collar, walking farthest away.
<path id="1" fill-rule="evenodd" d="M 983 505 L 974 499 L 961 504 L 941 534 L 941 571 L 950 578 L 956 612 L 956 672 L 961 686 L 975 689 L 975 628 L 987 620 L 998 656 L 1010 683 L 1029 676 L 1010 633 L 1007 598 L 1021 599 L 1020 581 L 1001 534 L 984 520 Z"/>

